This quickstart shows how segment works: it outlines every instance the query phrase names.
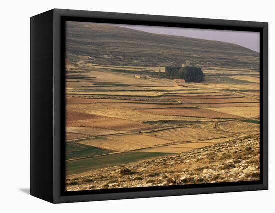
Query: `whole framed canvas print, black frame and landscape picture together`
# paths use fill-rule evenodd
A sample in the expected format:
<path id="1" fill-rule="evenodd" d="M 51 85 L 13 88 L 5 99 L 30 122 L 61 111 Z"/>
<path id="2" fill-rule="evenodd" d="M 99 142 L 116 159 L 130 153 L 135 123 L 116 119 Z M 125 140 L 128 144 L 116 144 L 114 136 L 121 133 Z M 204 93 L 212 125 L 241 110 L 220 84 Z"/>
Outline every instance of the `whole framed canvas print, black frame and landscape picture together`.
<path id="1" fill-rule="evenodd" d="M 31 18 L 31 195 L 268 189 L 268 23 L 53 9 Z"/>

